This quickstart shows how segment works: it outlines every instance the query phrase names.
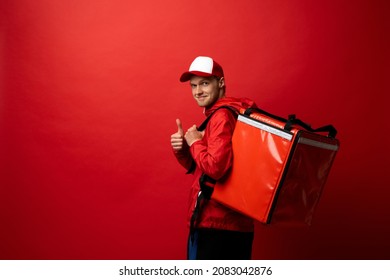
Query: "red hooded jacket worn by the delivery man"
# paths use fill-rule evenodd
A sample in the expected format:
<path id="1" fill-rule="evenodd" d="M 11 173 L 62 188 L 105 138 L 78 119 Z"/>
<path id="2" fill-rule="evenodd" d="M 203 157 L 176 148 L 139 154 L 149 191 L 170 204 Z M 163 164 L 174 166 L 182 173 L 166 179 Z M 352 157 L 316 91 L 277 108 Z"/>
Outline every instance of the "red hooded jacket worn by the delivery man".
<path id="1" fill-rule="evenodd" d="M 236 109 L 256 107 L 255 103 L 246 98 L 225 97 L 218 100 L 212 108 L 205 110 L 206 117 L 220 106 L 232 106 Z M 191 147 L 185 146 L 180 152 L 175 152 L 178 161 L 187 170 L 193 162 L 196 168 L 192 172 L 194 182 L 190 191 L 188 225 L 195 208 L 195 202 L 200 190 L 199 178 L 205 173 L 213 179 L 223 177 L 232 165 L 232 135 L 236 125 L 236 116 L 228 109 L 220 109 L 208 122 L 202 140 L 196 141 Z M 199 228 L 214 228 L 234 231 L 253 231 L 253 220 L 231 210 L 214 200 L 202 204 L 202 210 L 197 221 Z"/>

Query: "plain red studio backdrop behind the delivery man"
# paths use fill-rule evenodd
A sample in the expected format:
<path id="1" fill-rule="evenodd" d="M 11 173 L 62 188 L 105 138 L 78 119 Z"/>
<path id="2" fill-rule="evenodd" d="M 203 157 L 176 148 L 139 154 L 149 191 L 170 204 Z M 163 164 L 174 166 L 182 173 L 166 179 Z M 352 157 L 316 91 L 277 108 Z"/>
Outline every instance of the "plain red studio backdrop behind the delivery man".
<path id="1" fill-rule="evenodd" d="M 179 75 L 332 123 L 341 150 L 308 229 L 256 224 L 256 259 L 390 258 L 387 1 L 2 0 L 0 258 L 185 258 Z"/>

